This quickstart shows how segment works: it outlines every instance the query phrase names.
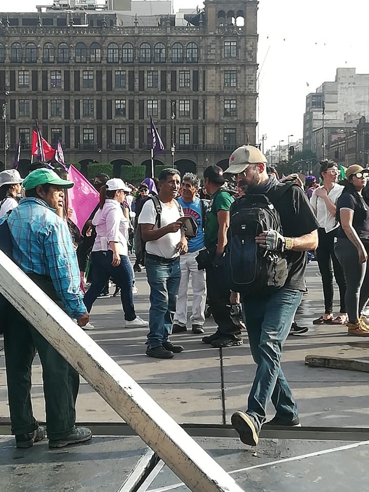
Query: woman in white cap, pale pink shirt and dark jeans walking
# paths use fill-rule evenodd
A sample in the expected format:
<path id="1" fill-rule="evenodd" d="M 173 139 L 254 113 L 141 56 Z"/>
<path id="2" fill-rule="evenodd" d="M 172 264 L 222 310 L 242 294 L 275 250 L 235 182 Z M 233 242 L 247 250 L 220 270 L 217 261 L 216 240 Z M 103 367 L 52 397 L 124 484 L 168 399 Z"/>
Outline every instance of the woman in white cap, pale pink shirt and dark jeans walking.
<path id="1" fill-rule="evenodd" d="M 113 277 L 120 288 L 120 299 L 125 313 L 125 326 L 145 327 L 149 323 L 136 316 L 132 294 L 132 270 L 128 258 L 129 221 L 121 203 L 130 189 L 120 178 L 109 179 L 100 188 L 99 210 L 92 220 L 96 239 L 92 248 L 92 282 L 85 295 L 85 306 L 90 313 L 104 285 Z"/>

